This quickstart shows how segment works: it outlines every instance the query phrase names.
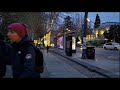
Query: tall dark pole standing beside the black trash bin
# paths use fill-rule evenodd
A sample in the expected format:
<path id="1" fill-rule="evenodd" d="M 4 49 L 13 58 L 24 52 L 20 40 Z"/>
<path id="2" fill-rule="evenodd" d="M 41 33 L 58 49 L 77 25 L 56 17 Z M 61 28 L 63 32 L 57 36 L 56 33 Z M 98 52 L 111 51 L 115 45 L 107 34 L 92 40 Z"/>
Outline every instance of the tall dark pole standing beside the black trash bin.
<path id="1" fill-rule="evenodd" d="M 83 49 L 82 49 L 82 59 L 86 59 L 86 31 L 87 31 L 87 17 L 88 12 L 85 12 L 84 16 L 84 33 L 83 33 Z"/>

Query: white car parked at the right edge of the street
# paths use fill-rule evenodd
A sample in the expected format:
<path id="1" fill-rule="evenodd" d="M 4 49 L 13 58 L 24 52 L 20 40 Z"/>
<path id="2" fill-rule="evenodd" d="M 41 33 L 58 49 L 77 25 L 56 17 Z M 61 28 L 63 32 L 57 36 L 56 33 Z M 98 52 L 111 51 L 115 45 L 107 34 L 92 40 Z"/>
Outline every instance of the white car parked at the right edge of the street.
<path id="1" fill-rule="evenodd" d="M 114 49 L 114 50 L 117 50 L 119 46 L 120 46 L 119 43 L 109 42 L 109 43 L 105 43 L 105 44 L 103 45 L 103 48 L 104 48 L 104 49 Z"/>

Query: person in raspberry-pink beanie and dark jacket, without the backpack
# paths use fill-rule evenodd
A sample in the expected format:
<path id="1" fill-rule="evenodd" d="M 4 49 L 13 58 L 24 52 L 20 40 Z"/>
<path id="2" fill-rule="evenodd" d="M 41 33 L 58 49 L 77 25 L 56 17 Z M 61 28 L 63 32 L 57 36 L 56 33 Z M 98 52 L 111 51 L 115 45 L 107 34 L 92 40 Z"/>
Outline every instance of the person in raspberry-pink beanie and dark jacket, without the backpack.
<path id="1" fill-rule="evenodd" d="M 8 38 L 12 42 L 11 65 L 13 78 L 40 78 L 35 71 L 35 51 L 33 46 L 23 47 L 31 43 L 27 25 L 12 23 L 8 26 Z"/>

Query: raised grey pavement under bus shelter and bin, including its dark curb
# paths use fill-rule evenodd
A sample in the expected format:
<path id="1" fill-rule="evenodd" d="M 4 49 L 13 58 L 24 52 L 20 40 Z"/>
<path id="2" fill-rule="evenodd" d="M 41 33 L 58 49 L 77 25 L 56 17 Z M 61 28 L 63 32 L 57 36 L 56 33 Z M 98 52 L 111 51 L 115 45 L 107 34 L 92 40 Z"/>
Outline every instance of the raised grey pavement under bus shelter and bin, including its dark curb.
<path id="1" fill-rule="evenodd" d="M 81 53 L 73 53 L 72 56 L 66 56 L 66 54 L 61 49 L 51 48 L 52 52 L 57 53 L 63 57 L 66 57 L 72 61 L 75 61 L 83 66 L 102 73 L 111 78 L 120 78 L 120 63 L 111 61 L 111 60 L 90 60 L 90 59 L 81 59 Z"/>

